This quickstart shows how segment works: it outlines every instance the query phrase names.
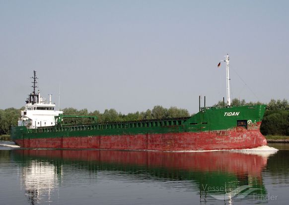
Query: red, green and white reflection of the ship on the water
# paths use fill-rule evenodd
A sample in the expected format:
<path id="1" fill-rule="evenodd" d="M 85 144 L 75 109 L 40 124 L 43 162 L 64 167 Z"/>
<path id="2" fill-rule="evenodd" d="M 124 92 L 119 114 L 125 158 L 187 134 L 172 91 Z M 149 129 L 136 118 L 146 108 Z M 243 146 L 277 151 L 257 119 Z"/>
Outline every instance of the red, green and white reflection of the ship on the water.
<path id="1" fill-rule="evenodd" d="M 110 178 L 115 177 L 115 172 L 110 171 L 118 171 L 129 180 L 187 181 L 186 186 L 199 195 L 201 204 L 211 196 L 224 196 L 244 185 L 255 189 L 249 195 L 267 194 L 261 173 L 268 155 L 19 149 L 11 150 L 11 157 L 21 167 L 22 186 L 32 205 L 43 200 L 51 202 L 66 176 L 88 174 L 85 180 L 91 181 L 103 171 L 108 171 L 106 176 Z"/>

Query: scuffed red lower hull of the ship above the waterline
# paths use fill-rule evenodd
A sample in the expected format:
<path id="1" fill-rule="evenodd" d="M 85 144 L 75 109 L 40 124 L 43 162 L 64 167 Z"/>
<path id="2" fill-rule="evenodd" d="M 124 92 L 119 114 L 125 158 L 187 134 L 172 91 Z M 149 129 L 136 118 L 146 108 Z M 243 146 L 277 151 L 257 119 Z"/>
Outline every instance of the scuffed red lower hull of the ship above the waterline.
<path id="1" fill-rule="evenodd" d="M 166 133 L 122 136 L 87 136 L 18 139 L 21 147 L 88 148 L 118 150 L 214 150 L 245 149 L 267 145 L 259 130 L 235 128 L 229 131 L 202 133 Z"/>

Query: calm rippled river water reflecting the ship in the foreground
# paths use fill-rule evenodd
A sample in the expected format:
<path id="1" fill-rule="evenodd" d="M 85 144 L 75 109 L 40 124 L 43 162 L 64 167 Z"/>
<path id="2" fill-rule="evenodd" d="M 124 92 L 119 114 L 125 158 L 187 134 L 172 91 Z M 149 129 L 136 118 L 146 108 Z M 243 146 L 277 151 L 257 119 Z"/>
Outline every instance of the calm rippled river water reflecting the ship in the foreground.
<path id="1" fill-rule="evenodd" d="M 285 205 L 289 203 L 289 144 L 269 146 L 279 151 L 0 146 L 0 204 Z"/>

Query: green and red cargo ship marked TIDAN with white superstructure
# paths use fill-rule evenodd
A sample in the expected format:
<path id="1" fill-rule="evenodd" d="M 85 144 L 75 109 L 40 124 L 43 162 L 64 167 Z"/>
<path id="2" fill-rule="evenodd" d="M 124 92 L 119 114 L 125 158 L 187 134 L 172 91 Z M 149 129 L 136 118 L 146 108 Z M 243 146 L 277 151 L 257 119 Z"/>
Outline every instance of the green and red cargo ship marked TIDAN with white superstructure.
<path id="1" fill-rule="evenodd" d="M 227 102 L 221 107 L 201 107 L 191 117 L 98 123 L 96 116 L 65 115 L 36 92 L 28 95 L 11 139 L 20 147 L 191 151 L 245 149 L 266 145 L 260 133 L 266 105 L 231 106 L 229 56 L 225 56 Z M 219 66 L 219 65 L 218 65 Z M 90 118 L 89 125 L 65 125 L 65 118 Z"/>

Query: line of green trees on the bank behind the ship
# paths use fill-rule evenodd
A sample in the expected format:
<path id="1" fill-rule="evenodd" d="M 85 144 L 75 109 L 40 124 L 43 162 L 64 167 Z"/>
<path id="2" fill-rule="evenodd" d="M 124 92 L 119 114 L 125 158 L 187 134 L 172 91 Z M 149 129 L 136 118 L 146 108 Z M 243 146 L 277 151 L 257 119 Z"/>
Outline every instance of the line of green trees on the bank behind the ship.
<path id="1" fill-rule="evenodd" d="M 231 105 L 254 105 L 263 104 L 261 102 L 246 102 L 245 100 L 238 100 L 237 98 L 232 100 Z M 214 106 L 223 106 L 223 101 L 218 101 Z M 18 118 L 20 118 L 21 110 L 15 108 L 0 109 L 0 135 L 9 135 L 10 127 L 16 126 Z M 63 109 L 66 115 L 91 115 L 97 116 L 98 123 L 107 122 L 122 122 L 122 121 L 134 121 L 134 120 L 149 120 L 149 119 L 163 119 L 163 118 L 177 118 L 177 117 L 189 117 L 188 110 L 170 107 L 164 108 L 160 105 L 154 106 L 153 109 L 147 109 L 144 112 L 135 112 L 122 114 L 115 109 L 106 109 L 103 113 L 95 110 L 88 112 L 87 109 L 77 110 L 75 108 Z M 73 118 L 65 119 L 66 124 L 77 125 L 83 123 L 89 123 L 88 119 L 76 120 Z M 288 100 L 274 100 L 272 99 L 267 104 L 267 110 L 264 114 L 260 131 L 263 135 L 280 135 L 289 136 L 289 102 Z"/>

